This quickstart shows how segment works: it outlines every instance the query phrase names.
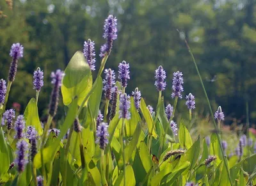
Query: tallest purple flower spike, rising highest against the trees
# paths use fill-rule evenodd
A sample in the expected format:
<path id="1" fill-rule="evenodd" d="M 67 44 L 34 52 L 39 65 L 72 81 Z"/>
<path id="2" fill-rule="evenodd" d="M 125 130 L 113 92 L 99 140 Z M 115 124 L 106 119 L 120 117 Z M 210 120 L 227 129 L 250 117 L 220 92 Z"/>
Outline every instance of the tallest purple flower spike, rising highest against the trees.
<path id="1" fill-rule="evenodd" d="M 113 15 L 109 15 L 105 20 L 103 38 L 107 41 L 100 48 L 100 57 L 104 57 L 106 54 L 109 55 L 112 49 L 113 40 L 117 38 L 117 19 Z"/>

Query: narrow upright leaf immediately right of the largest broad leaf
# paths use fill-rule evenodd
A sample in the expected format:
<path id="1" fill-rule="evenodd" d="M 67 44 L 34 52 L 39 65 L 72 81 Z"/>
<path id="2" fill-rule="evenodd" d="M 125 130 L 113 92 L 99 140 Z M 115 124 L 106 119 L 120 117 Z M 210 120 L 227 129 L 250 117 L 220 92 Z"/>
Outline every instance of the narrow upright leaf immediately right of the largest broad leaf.
<path id="1" fill-rule="evenodd" d="M 97 118 L 99 114 L 99 107 L 100 107 L 100 101 L 101 101 L 101 95 L 102 95 L 102 78 L 97 77 L 95 82 L 93 83 L 93 86 L 95 86 L 95 89 L 93 90 L 92 94 L 89 98 L 90 108 L 92 111 L 93 118 Z"/>

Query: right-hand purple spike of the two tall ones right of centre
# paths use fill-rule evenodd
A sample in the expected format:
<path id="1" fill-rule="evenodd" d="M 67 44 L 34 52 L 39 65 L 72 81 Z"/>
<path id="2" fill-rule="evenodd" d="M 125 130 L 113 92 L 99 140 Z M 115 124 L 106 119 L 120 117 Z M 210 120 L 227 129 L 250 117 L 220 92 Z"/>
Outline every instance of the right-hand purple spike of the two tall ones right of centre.
<path id="1" fill-rule="evenodd" d="M 172 98 L 179 97 L 180 99 L 182 98 L 182 91 L 183 91 L 183 77 L 182 77 L 182 72 L 174 72 L 173 73 L 173 82 L 172 82 Z"/>

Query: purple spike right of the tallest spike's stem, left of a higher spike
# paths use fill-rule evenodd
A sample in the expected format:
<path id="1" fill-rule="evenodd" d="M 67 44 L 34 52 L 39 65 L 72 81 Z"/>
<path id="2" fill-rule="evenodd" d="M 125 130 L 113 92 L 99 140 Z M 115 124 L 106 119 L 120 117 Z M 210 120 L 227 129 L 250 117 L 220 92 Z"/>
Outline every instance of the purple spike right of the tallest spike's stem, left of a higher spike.
<path id="1" fill-rule="evenodd" d="M 112 98 L 112 93 L 114 91 L 113 89 L 113 86 L 115 86 L 115 72 L 114 70 L 111 70 L 110 68 L 107 70 L 105 69 L 105 72 L 106 74 L 106 78 L 103 80 L 103 84 L 104 84 L 104 91 L 105 91 L 105 97 L 108 99 L 108 100 L 111 100 Z"/>

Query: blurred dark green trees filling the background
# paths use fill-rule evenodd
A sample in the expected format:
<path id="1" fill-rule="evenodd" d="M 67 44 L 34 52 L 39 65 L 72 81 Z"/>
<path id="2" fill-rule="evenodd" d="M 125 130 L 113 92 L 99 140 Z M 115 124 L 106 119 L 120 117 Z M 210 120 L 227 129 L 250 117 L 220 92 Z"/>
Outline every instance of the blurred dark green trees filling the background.
<path id="1" fill-rule="evenodd" d="M 24 45 L 8 107 L 18 102 L 24 111 L 29 99 L 35 97 L 33 71 L 40 66 L 45 86 L 38 107 L 46 114 L 51 71 L 64 70 L 88 38 L 95 41 L 98 70 L 98 54 L 104 43 L 102 26 L 109 13 L 118 19 L 118 39 L 106 68 L 117 71 L 121 61 L 130 63 L 129 93 L 138 86 L 147 104 L 156 105 L 154 70 L 163 65 L 168 84 L 166 102 L 173 104 L 172 73 L 179 70 L 184 74 L 184 97 L 193 93 L 196 111 L 207 113 L 204 93 L 179 29 L 195 55 L 214 109 L 222 106 L 227 123 L 243 123 L 248 102 L 250 120 L 256 121 L 255 0 L 1 0 L 1 78 L 8 75 L 12 43 Z M 179 111 L 186 111 L 184 102 L 179 102 Z"/>

